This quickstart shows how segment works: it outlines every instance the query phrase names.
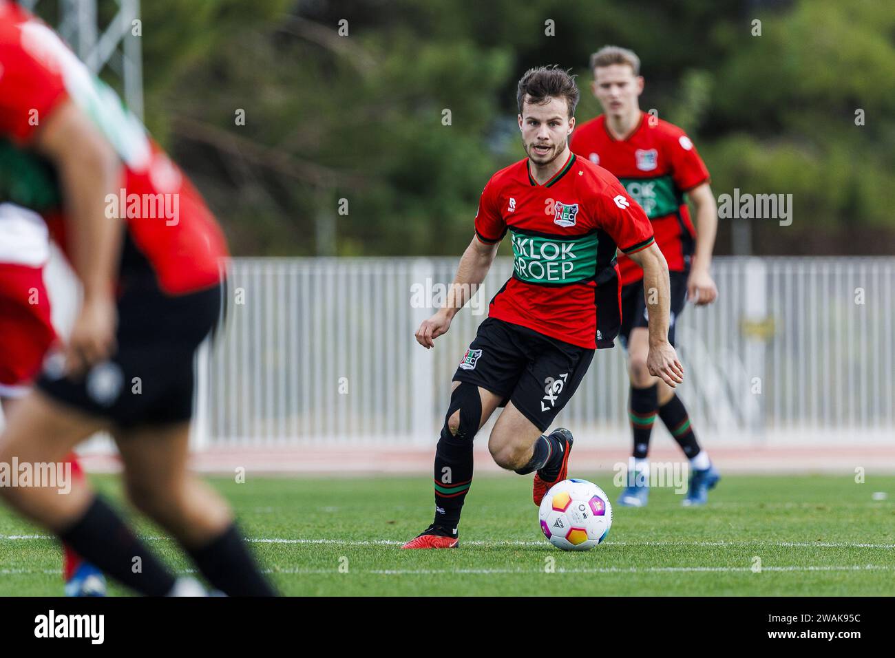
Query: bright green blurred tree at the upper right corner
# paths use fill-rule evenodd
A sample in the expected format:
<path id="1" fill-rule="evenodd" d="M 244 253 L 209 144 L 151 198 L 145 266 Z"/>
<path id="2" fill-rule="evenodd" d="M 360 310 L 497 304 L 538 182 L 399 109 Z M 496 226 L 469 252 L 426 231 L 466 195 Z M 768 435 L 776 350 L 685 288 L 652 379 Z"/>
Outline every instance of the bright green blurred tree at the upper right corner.
<path id="1" fill-rule="evenodd" d="M 756 16 L 762 36 L 728 35 L 737 47 L 715 72 L 703 156 L 716 192 L 793 194 L 792 226 L 757 224 L 760 252 L 893 252 L 895 7 Z"/>

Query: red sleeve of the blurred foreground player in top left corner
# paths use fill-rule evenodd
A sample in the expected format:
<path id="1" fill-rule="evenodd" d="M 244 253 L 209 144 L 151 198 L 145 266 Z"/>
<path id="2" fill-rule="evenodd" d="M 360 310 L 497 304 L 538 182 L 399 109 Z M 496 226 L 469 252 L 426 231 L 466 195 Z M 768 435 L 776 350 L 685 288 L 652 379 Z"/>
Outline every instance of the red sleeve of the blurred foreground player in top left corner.
<path id="1" fill-rule="evenodd" d="M 21 30 L 0 28 L 0 135 L 18 143 L 34 132 L 64 98 L 62 77 L 21 46 Z"/>

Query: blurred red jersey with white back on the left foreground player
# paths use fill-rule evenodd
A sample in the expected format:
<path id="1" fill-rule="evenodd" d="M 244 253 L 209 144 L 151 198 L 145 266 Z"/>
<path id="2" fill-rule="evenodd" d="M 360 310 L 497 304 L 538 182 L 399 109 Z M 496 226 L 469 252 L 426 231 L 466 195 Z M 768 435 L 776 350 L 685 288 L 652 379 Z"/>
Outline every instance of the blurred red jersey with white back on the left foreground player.
<path id="1" fill-rule="evenodd" d="M 53 165 L 31 145 L 47 117 L 68 101 L 90 116 L 123 163 L 119 207 L 128 241 L 121 271 L 149 269 L 170 295 L 217 284 L 226 240 L 200 193 L 53 30 L 0 0 L 0 201 L 38 212 L 66 252 L 62 187 Z M 148 205 L 158 200 L 175 212 L 159 217 L 158 206 Z"/>

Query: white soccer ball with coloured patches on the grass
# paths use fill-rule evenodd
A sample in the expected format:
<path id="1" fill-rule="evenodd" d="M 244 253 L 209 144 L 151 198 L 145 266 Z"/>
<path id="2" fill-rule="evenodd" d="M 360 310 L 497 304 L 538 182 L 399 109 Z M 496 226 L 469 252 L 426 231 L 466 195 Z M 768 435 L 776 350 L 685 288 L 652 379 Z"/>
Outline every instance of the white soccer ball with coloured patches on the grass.
<path id="1" fill-rule="evenodd" d="M 606 539 L 612 504 L 606 491 L 587 480 L 563 480 L 541 500 L 541 531 L 563 551 L 590 551 Z"/>

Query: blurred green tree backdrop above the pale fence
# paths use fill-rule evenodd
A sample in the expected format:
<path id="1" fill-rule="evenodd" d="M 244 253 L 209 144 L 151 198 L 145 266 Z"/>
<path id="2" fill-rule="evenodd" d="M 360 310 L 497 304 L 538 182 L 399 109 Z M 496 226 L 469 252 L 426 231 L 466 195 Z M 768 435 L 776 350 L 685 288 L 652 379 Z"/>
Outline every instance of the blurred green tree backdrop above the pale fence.
<path id="1" fill-rule="evenodd" d="M 600 112 L 588 57 L 608 43 L 641 57 L 642 107 L 691 134 L 716 194 L 793 194 L 792 226 L 755 222 L 756 252 L 895 243 L 891 3 L 142 6 L 147 123 L 236 253 L 459 253 L 488 177 L 524 156 L 518 77 L 537 64 L 573 69 L 584 121 Z M 722 222 L 718 251 L 728 248 Z"/>

